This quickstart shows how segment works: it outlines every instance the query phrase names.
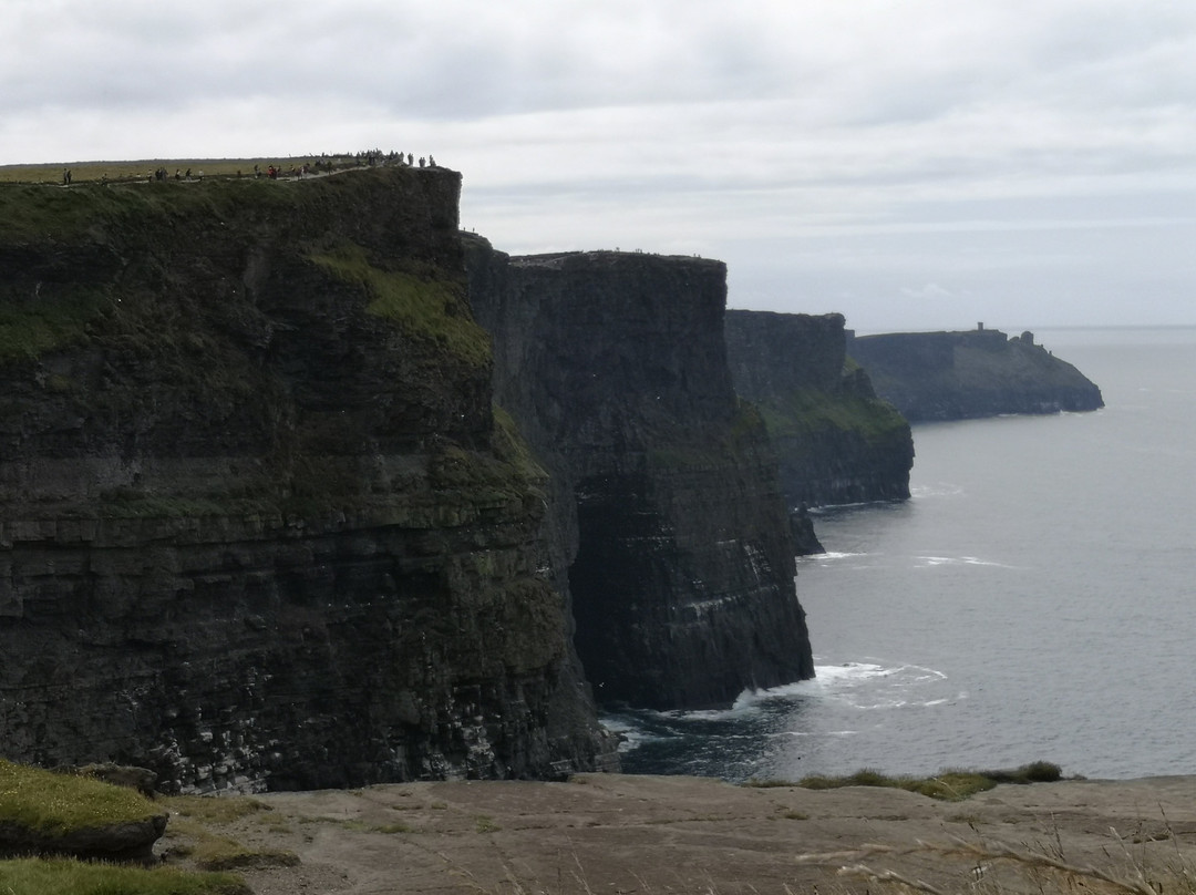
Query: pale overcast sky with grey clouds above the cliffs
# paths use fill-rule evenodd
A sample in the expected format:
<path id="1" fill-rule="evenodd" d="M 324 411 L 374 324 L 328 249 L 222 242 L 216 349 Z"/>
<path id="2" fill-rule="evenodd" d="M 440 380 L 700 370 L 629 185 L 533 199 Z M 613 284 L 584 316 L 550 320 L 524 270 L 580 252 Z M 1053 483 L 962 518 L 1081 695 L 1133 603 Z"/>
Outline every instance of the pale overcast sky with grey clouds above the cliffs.
<path id="1" fill-rule="evenodd" d="M 512 254 L 860 331 L 1196 324 L 1190 0 L 5 0 L 0 164 L 432 153 Z"/>

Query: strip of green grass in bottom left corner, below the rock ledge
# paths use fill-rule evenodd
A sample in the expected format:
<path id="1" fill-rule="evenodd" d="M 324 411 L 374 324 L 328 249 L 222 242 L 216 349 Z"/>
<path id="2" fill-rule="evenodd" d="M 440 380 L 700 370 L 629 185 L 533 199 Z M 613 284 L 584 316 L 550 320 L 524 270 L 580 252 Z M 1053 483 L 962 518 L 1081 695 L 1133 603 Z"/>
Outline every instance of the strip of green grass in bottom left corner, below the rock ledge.
<path id="1" fill-rule="evenodd" d="M 252 895 L 228 873 L 122 867 L 67 858 L 0 860 L 0 893 L 22 895 Z"/>

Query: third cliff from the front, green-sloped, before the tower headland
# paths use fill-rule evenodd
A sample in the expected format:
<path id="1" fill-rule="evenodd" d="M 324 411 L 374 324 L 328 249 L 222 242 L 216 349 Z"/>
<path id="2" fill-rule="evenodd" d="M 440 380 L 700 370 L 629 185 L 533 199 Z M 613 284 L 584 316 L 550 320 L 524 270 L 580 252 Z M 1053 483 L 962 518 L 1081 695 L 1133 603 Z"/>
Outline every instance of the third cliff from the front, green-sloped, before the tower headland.
<path id="1" fill-rule="evenodd" d="M 909 424 L 847 359 L 843 316 L 727 311 L 736 390 L 776 444 L 791 507 L 909 497 Z"/>

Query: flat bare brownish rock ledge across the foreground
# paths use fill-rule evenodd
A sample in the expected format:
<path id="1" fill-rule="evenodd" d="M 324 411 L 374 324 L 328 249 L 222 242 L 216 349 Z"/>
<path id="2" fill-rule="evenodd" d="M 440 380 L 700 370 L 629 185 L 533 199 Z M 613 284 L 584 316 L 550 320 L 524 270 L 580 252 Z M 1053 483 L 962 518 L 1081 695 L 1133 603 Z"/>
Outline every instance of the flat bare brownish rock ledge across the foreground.
<path id="1" fill-rule="evenodd" d="M 942 891 L 971 890 L 977 877 L 990 893 L 1107 889 L 1094 877 L 1063 879 L 1050 860 L 1137 881 L 1137 891 L 1188 891 L 1183 867 L 1196 858 L 1196 777 L 1002 785 L 956 803 L 617 774 L 260 802 L 266 810 L 214 830 L 250 851 L 299 857 L 244 871 L 260 895 L 875 891 L 874 881 L 837 873 L 856 864 Z M 163 846 L 170 863 L 187 851 L 170 833 Z M 1003 847 L 1020 857 L 993 857 Z"/>

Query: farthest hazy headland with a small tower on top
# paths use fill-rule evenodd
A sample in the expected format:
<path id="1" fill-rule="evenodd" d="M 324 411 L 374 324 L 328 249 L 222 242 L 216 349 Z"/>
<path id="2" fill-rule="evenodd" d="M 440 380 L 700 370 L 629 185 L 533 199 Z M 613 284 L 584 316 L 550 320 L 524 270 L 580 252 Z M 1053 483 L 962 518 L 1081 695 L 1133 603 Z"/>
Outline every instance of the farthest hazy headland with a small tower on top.
<path id="1" fill-rule="evenodd" d="M 996 329 L 859 336 L 848 353 L 868 369 L 877 392 L 911 421 L 1104 407 L 1079 370 L 1032 333 Z"/>

